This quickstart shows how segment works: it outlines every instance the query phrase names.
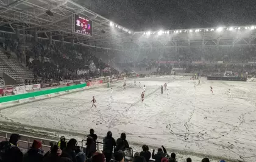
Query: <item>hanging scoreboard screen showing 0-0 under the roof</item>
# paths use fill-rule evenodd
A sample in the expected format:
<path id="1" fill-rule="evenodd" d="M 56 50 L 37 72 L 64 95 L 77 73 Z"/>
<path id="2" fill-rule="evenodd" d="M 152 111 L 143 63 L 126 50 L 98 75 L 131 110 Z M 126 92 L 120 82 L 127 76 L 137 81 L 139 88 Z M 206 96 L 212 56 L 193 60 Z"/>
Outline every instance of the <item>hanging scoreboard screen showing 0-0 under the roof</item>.
<path id="1" fill-rule="evenodd" d="M 74 31 L 83 35 L 93 36 L 93 22 L 89 19 L 74 15 Z"/>

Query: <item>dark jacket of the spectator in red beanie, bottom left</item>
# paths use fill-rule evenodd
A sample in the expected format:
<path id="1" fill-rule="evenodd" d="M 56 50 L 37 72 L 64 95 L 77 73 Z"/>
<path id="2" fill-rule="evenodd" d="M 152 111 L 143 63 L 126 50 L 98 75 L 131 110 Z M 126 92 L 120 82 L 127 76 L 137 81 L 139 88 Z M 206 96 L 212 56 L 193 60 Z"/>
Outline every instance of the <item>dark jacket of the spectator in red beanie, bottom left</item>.
<path id="1" fill-rule="evenodd" d="M 43 152 L 40 149 L 29 149 L 23 156 L 23 162 L 41 162 Z"/>

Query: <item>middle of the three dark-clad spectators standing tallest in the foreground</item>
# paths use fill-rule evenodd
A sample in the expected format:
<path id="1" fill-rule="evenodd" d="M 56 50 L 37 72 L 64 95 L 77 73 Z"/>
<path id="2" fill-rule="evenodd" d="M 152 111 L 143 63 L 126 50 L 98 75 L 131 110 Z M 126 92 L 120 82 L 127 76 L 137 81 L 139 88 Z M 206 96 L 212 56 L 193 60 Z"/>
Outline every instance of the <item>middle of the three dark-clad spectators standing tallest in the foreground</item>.
<path id="1" fill-rule="evenodd" d="M 112 132 L 108 131 L 107 136 L 103 138 L 103 153 L 105 155 L 106 162 L 111 160 L 114 146 L 116 146 L 116 141 L 112 137 Z"/>

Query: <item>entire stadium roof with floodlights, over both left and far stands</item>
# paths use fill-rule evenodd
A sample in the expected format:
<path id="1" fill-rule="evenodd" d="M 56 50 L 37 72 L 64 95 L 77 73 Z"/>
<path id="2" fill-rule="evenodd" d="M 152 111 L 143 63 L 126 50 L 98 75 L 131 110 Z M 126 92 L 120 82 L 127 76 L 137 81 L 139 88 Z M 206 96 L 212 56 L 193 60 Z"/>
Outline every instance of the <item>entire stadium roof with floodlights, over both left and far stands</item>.
<path id="1" fill-rule="evenodd" d="M 76 2 L 82 4 L 82 1 Z M 233 26 L 232 30 L 230 27 L 223 27 L 223 31 L 219 32 L 216 31 L 218 27 L 214 27 L 162 30 L 163 33 L 161 32 L 160 35 L 158 35 L 159 30 L 154 30 L 147 34 L 149 31 L 133 32 L 85 8 L 82 6 L 84 4 L 80 5 L 76 2 L 71 0 L 0 0 L 0 26 L 9 28 L 5 32 L 15 33 L 20 30 L 20 33 L 26 31 L 28 35 L 37 30 L 41 33 L 38 37 L 44 38 L 48 38 L 51 32 L 53 40 L 60 40 L 59 36 L 63 35 L 65 41 L 70 42 L 74 39 L 75 43 L 104 49 L 132 49 L 131 46 L 124 46 L 127 43 L 135 43 L 142 48 L 235 45 L 256 47 L 254 41 L 256 30 L 254 26 L 252 29 L 253 24 Z M 46 13 L 48 10 L 51 10 L 54 16 L 49 16 Z M 92 37 L 72 32 L 74 13 L 93 21 Z M 130 15 L 132 16 L 132 13 Z M 41 36 L 42 34 L 44 36 Z"/>

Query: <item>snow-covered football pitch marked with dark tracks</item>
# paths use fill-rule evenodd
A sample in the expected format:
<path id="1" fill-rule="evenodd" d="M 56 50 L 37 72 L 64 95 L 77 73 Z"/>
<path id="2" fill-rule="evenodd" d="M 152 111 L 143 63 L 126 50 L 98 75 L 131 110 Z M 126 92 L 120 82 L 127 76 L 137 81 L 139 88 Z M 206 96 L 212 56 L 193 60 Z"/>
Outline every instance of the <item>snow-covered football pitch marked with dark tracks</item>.
<path id="1" fill-rule="evenodd" d="M 160 91 L 165 82 L 169 95 Z M 147 78 L 137 79 L 134 86 L 133 80 L 127 80 L 126 90 L 123 83 L 112 85 L 112 97 L 106 86 L 93 88 L 6 108 L 0 111 L 0 122 L 55 132 L 85 133 L 93 128 L 100 137 L 108 130 L 115 138 L 125 132 L 135 146 L 163 145 L 182 152 L 255 161 L 256 83 L 201 79 L 201 86 L 194 88 L 194 82 L 188 77 Z M 232 96 L 227 95 L 229 88 Z M 92 96 L 97 108 L 91 108 Z"/>

